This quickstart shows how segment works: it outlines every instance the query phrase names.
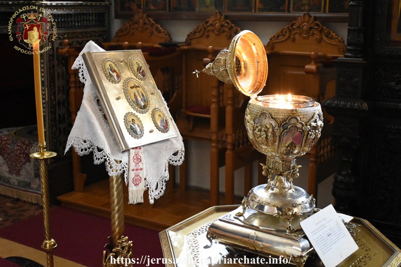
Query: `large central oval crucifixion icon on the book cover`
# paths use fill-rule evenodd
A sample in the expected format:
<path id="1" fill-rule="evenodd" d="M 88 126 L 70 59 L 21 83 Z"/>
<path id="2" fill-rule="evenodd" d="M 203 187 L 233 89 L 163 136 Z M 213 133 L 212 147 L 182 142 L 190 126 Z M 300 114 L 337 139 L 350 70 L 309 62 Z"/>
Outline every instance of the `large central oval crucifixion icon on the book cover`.
<path id="1" fill-rule="evenodd" d="M 123 91 L 129 105 L 139 113 L 149 110 L 149 97 L 138 80 L 126 78 L 123 83 Z"/>

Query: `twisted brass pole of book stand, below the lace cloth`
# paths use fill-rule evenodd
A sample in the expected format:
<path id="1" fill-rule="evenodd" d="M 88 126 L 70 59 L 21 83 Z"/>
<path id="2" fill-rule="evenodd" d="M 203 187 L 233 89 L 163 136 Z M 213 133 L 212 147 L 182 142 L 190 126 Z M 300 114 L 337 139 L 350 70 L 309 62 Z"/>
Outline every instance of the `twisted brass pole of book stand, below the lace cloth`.
<path id="1" fill-rule="evenodd" d="M 122 174 L 113 175 L 109 178 L 110 183 L 110 219 L 111 236 L 113 247 L 116 247 L 117 240 L 124 234 L 124 201 Z"/>

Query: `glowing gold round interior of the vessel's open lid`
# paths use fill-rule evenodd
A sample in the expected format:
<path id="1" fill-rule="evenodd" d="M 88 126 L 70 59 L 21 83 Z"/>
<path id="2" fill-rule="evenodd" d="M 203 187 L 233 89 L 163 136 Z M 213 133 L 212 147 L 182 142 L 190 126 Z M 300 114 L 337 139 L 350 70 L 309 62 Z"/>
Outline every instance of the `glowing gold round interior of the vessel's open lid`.
<path id="1" fill-rule="evenodd" d="M 250 96 L 258 94 L 266 84 L 268 63 L 265 47 L 249 30 L 234 36 L 227 58 L 227 69 L 235 87 Z"/>

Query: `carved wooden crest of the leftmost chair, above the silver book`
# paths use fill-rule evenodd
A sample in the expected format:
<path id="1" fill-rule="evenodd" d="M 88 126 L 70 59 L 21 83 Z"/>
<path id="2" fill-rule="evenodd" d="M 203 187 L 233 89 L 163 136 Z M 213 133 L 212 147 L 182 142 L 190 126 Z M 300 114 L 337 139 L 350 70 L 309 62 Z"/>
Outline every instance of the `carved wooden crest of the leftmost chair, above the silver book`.
<path id="1" fill-rule="evenodd" d="M 138 12 L 116 31 L 110 42 L 105 42 L 103 45 L 106 50 L 110 50 L 117 44 L 122 45 L 127 42 L 130 46 L 124 47 L 127 49 L 135 47 L 138 42 L 144 46 L 153 46 L 167 41 L 171 41 L 170 33 L 146 13 Z"/>

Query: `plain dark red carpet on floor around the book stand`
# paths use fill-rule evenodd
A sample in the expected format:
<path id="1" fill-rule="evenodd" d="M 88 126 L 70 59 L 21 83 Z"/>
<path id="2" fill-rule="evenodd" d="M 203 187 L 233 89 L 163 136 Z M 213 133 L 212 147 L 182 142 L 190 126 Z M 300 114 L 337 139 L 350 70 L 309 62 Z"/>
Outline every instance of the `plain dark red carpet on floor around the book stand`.
<path id="1" fill-rule="evenodd" d="M 52 237 L 57 242 L 55 255 L 90 267 L 102 265 L 103 247 L 111 235 L 110 219 L 65 207 L 52 208 L 50 217 Z M 125 235 L 133 241 L 131 257 L 163 257 L 157 231 L 125 224 Z M 0 229 L 0 237 L 36 249 L 41 249 L 44 236 L 43 214 Z"/>

